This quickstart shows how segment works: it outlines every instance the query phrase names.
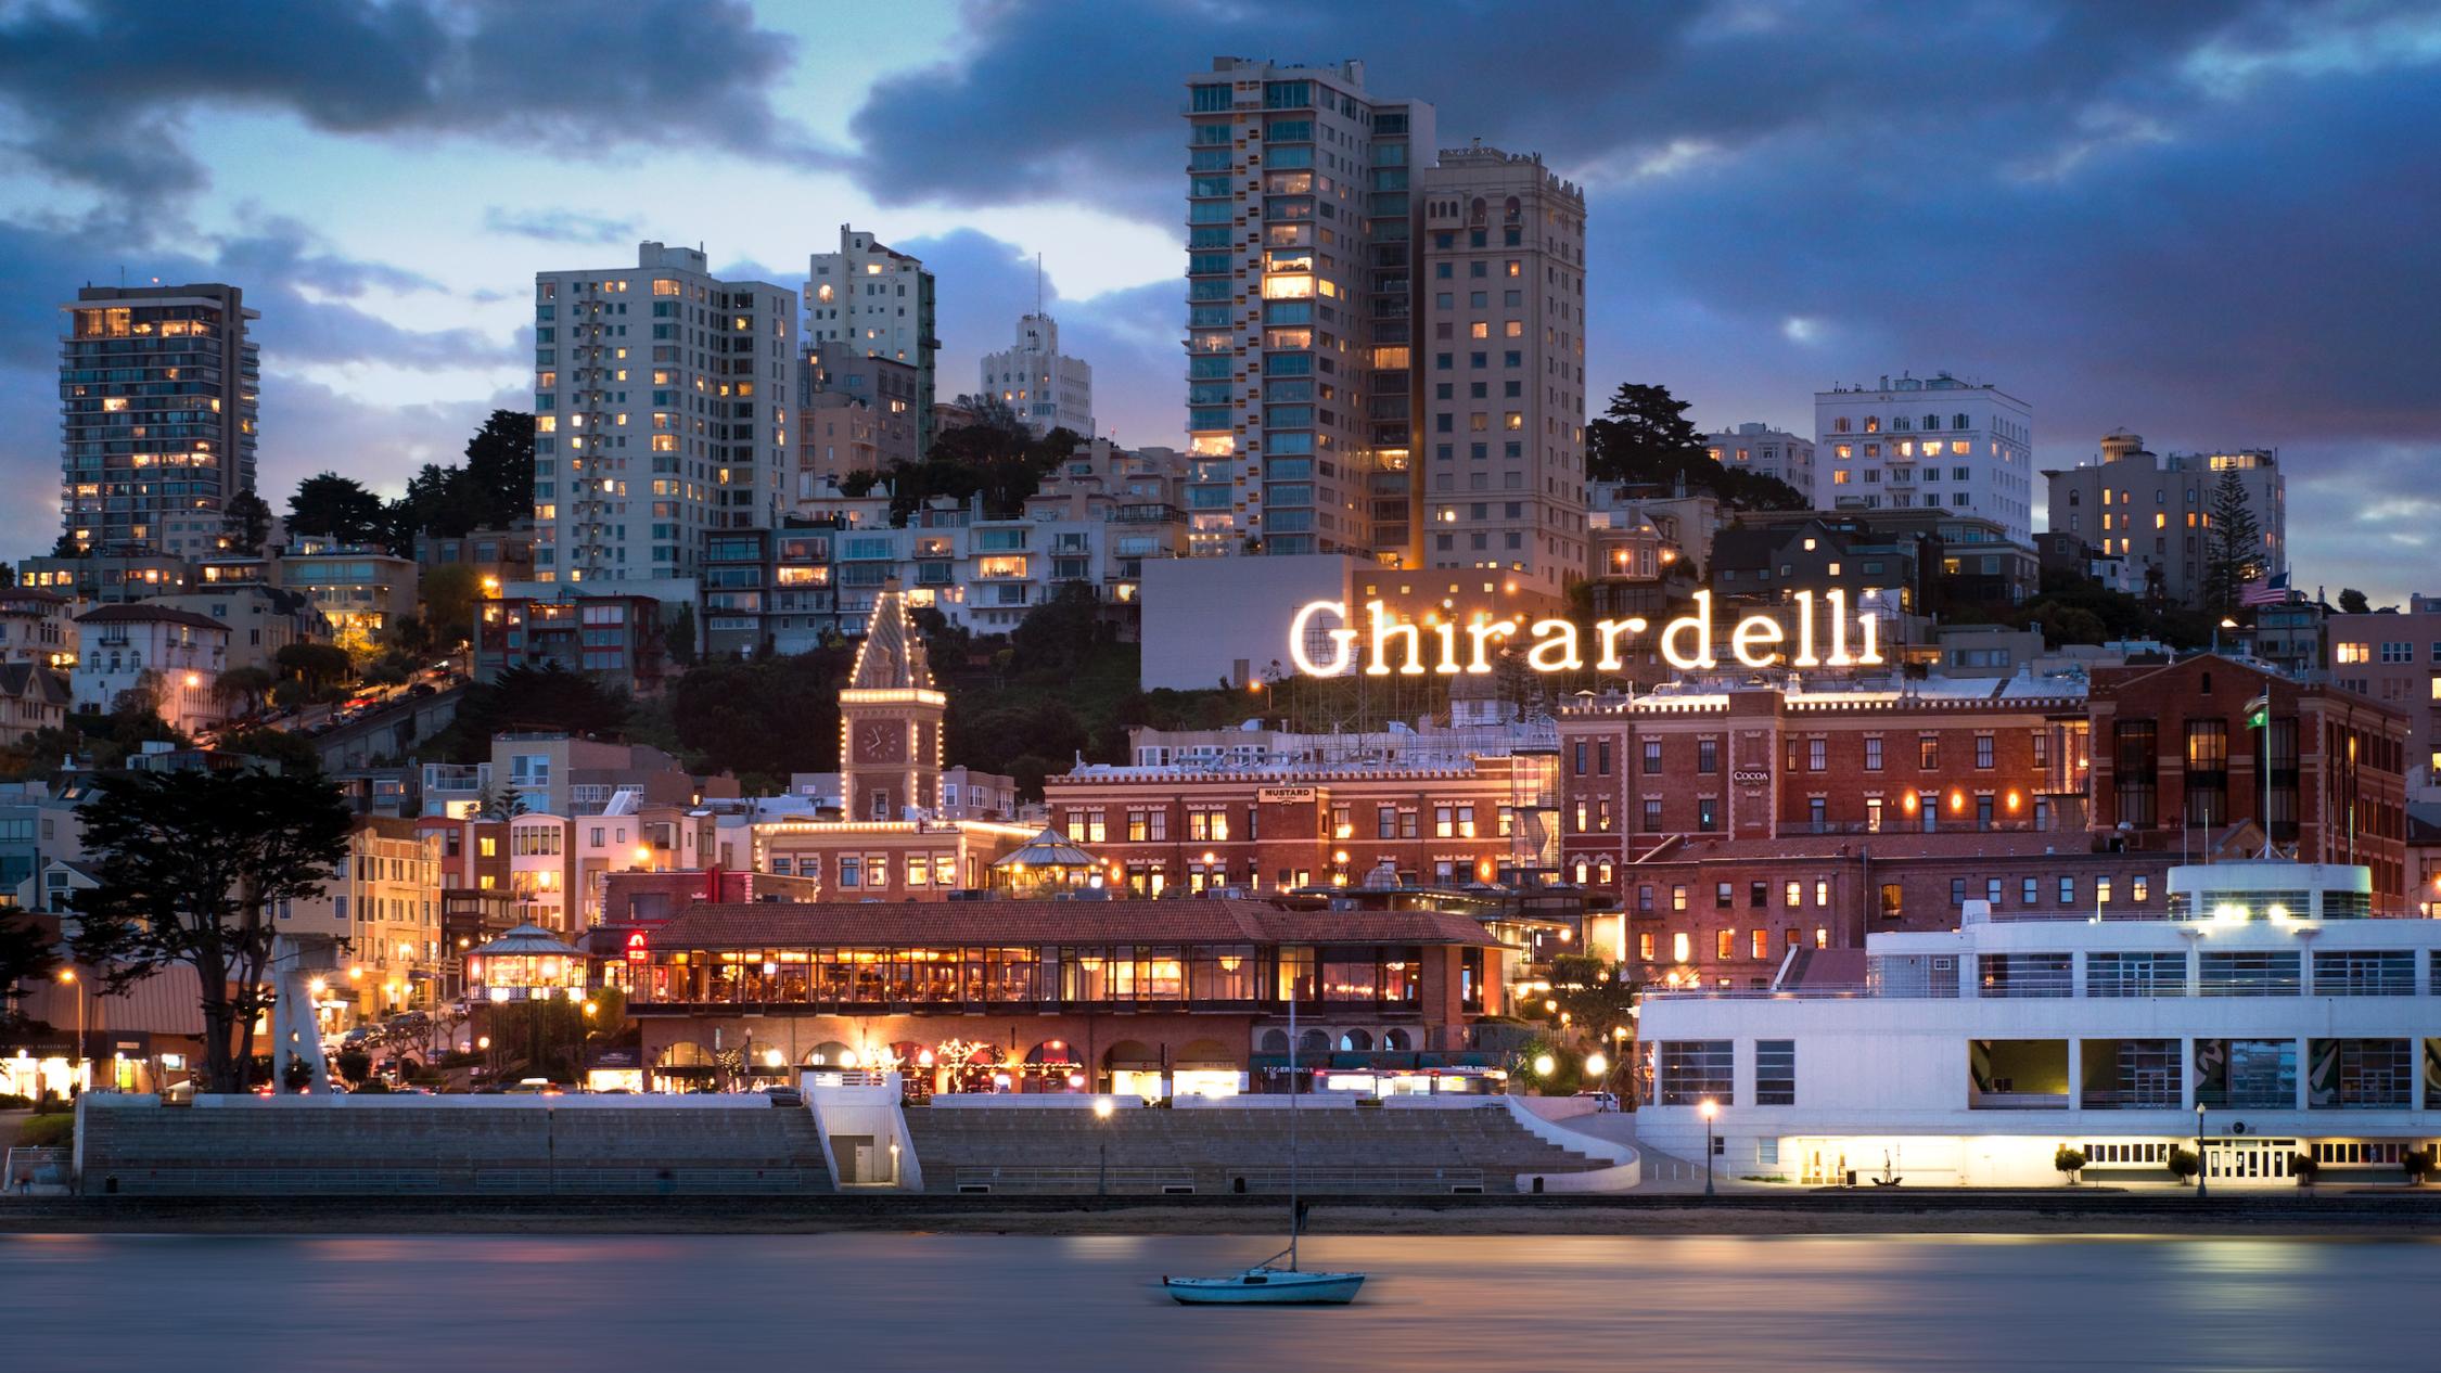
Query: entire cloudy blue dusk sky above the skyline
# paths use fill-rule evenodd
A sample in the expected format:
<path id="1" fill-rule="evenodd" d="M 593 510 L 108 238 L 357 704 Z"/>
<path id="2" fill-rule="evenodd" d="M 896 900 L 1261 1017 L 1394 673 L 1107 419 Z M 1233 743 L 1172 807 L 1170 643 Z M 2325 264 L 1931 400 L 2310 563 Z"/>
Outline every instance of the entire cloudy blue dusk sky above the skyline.
<path id="1" fill-rule="evenodd" d="M 1042 254 L 1103 429 L 1184 446 L 1216 54 L 1365 59 L 1443 144 L 1587 185 L 1596 407 L 1809 432 L 1816 390 L 1950 371 L 2046 468 L 2116 427 L 2280 449 L 2297 585 L 2441 593 L 2441 5 L 2407 2 L 12 0 L 0 549 L 59 537 L 59 302 L 122 271 L 264 312 L 276 510 L 530 407 L 535 271 L 664 239 L 796 285 L 847 222 L 940 276 L 945 398 Z"/>

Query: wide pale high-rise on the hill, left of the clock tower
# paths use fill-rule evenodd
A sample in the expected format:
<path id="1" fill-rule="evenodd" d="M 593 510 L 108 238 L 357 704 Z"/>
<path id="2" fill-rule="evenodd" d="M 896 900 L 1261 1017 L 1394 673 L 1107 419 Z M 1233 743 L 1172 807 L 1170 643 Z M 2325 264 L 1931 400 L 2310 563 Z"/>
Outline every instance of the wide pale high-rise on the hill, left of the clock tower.
<path id="1" fill-rule="evenodd" d="M 698 249 L 535 273 L 535 580 L 681 578 L 705 529 L 776 524 L 796 366 L 796 293 Z"/>

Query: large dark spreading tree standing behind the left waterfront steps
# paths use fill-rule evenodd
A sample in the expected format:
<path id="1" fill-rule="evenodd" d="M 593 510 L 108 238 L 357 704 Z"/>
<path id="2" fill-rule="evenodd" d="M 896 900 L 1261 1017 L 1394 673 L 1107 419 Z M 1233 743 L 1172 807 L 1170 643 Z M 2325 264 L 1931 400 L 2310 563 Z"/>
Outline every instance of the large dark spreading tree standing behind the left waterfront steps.
<path id="1" fill-rule="evenodd" d="M 322 895 L 354 824 L 339 788 L 290 773 L 120 773 L 78 807 L 98 885 L 76 893 L 71 946 L 105 995 L 171 963 L 203 985 L 215 1093 L 242 1093 L 278 902 Z"/>

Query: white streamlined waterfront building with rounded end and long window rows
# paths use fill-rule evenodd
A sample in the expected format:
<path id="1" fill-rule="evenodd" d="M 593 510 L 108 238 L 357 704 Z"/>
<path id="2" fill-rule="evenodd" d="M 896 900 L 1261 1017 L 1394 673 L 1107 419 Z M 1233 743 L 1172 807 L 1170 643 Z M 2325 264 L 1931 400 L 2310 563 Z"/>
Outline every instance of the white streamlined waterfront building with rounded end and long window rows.
<path id="1" fill-rule="evenodd" d="M 2441 1134 L 2441 919 L 2368 919 L 2370 871 L 2172 868 L 2160 917 L 1994 915 L 1797 949 L 1767 990 L 1648 990 L 1638 1136 L 1721 1178 L 2212 1185 L 2400 1175 Z M 2031 897 L 2028 897 L 2031 900 Z M 2202 1112 L 2197 1110 L 2202 1107 Z M 2431 1114 L 2426 1114 L 2431 1112 Z"/>

